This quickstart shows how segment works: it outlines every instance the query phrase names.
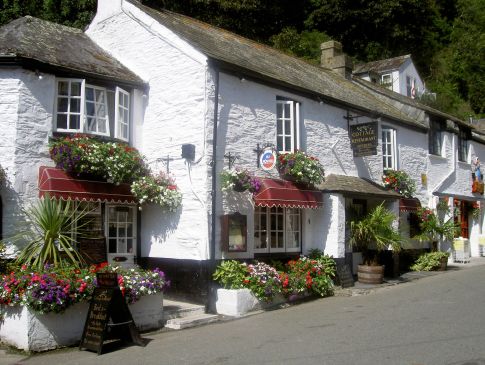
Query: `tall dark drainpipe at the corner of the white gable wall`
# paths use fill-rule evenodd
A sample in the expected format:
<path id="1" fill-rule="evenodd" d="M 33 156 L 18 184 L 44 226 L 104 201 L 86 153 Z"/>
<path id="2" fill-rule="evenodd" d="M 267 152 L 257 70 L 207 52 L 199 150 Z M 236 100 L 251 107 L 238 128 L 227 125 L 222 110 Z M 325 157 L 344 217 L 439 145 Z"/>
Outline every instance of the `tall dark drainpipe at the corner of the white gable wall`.
<path id="1" fill-rule="evenodd" d="M 216 208 L 217 208 L 217 124 L 219 119 L 219 70 L 214 67 L 214 122 L 212 129 L 212 208 L 211 208 L 211 239 L 209 242 L 209 267 L 207 268 L 208 298 L 206 303 L 206 312 L 215 310 L 216 287 L 212 281 L 212 272 L 216 266 Z"/>

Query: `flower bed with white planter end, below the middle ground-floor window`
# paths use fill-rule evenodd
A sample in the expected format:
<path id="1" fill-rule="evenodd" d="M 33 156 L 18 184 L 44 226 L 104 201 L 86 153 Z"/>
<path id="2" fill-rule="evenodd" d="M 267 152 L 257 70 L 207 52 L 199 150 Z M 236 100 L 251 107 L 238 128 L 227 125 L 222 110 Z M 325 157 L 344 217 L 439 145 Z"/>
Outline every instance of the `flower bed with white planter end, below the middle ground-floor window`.
<path id="1" fill-rule="evenodd" d="M 248 265 L 224 261 L 214 273 L 214 279 L 224 287 L 217 292 L 216 309 L 220 314 L 240 316 L 276 305 L 281 298 L 291 301 L 308 295 L 329 296 L 333 294 L 334 276 L 335 261 L 324 255 L 291 260 L 279 272 L 262 262 Z"/>

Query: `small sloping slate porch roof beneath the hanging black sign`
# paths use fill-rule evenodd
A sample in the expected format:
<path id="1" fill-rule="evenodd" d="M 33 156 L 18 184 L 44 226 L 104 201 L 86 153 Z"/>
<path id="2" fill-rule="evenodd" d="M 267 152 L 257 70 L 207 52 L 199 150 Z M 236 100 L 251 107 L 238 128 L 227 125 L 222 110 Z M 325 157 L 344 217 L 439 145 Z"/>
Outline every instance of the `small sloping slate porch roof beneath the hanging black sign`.
<path id="1" fill-rule="evenodd" d="M 402 196 L 395 191 L 357 176 L 330 174 L 325 181 L 317 186 L 324 193 L 343 193 L 346 195 L 365 195 L 383 199 L 400 199 Z"/>

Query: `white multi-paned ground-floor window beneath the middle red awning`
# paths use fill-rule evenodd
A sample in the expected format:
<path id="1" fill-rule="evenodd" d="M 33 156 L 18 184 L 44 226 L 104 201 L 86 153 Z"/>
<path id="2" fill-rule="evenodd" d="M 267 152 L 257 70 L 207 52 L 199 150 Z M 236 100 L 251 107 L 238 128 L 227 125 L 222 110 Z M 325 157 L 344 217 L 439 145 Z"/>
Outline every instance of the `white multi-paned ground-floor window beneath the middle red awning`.
<path id="1" fill-rule="evenodd" d="M 298 227 L 291 227 L 290 221 L 291 216 L 298 215 Z M 275 217 L 275 221 L 277 222 L 278 219 L 276 217 L 281 217 L 280 221 L 282 226 L 277 225 L 271 227 L 271 219 Z M 262 244 L 263 247 L 253 247 L 255 253 L 278 253 L 278 252 L 301 252 L 302 247 L 302 210 L 295 209 L 295 208 L 281 208 L 281 207 L 256 207 L 254 212 L 254 219 L 255 219 L 255 229 L 254 229 L 254 236 L 259 235 L 262 237 L 263 235 L 266 237 L 265 244 Z M 260 229 L 261 225 L 256 223 L 256 220 L 265 220 L 266 229 Z M 274 236 L 272 235 L 274 233 Z M 299 242 L 297 247 L 288 247 L 288 242 L 293 235 L 298 233 Z M 272 241 L 272 237 L 275 238 Z M 282 242 L 280 242 L 280 239 Z M 256 241 L 255 241 L 256 242 Z M 264 247 L 265 246 L 265 247 Z"/>

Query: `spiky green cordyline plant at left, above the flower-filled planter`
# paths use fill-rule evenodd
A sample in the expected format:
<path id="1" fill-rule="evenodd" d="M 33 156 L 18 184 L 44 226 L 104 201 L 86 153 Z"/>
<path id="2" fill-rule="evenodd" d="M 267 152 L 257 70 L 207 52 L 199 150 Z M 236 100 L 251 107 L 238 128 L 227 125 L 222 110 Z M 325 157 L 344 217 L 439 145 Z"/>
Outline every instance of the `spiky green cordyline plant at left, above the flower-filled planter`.
<path id="1" fill-rule="evenodd" d="M 73 205 L 70 200 L 45 196 L 24 211 L 29 228 L 9 240 L 26 243 L 17 257 L 18 264 L 42 270 L 45 264 L 79 267 L 84 262 L 75 249 L 73 237 L 82 232 L 89 222 L 82 220 L 86 210 L 76 210 Z"/>

